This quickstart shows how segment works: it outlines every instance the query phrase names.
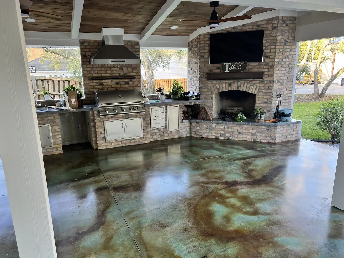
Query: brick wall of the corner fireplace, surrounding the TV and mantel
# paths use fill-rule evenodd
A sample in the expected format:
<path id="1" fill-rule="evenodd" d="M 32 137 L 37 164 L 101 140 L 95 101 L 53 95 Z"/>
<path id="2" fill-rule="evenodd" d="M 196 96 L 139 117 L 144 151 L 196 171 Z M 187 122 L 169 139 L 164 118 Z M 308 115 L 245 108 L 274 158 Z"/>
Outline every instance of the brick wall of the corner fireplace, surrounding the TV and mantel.
<path id="1" fill-rule="evenodd" d="M 214 92 L 214 89 L 221 89 L 224 84 L 228 85 L 227 88 L 232 87 L 233 84 L 253 85 L 257 89 L 256 107 L 265 109 L 268 118 L 272 117 L 275 111 L 276 94 L 279 90 L 283 94 L 282 107 L 290 107 L 296 55 L 295 25 L 294 17 L 280 16 L 197 36 L 189 42 L 189 69 L 199 67 L 199 75 L 197 71 L 189 71 L 189 85 L 192 90 L 201 93 L 201 98 L 206 100 L 204 105 L 208 106 L 212 112 L 213 96 L 218 93 L 216 90 Z M 206 73 L 220 73 L 222 69 L 222 64 L 209 64 L 209 35 L 211 33 L 262 29 L 264 29 L 263 62 L 247 63 L 247 72 L 264 72 L 263 80 L 206 80 Z M 199 47 L 196 47 L 197 44 Z M 199 59 L 197 59 L 198 54 Z M 190 75 L 192 75 L 191 78 Z M 195 83 L 198 79 L 199 86 Z"/>

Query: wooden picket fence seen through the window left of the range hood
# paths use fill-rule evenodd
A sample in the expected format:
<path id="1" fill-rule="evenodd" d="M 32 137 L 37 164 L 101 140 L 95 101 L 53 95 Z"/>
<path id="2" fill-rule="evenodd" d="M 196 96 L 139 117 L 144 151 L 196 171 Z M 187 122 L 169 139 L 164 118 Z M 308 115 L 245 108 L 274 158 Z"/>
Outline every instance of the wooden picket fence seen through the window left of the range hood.
<path id="1" fill-rule="evenodd" d="M 69 85 L 73 84 L 74 87 L 77 87 L 81 84 L 81 82 L 77 80 L 72 80 L 67 76 L 63 78 L 62 76 L 57 77 L 56 75 L 43 77 L 43 76 L 31 76 L 32 87 L 36 89 L 37 92 L 37 100 L 44 99 L 43 90 L 49 90 L 51 96 L 54 99 L 59 99 L 59 93 L 62 92 L 64 87 L 68 87 Z"/>

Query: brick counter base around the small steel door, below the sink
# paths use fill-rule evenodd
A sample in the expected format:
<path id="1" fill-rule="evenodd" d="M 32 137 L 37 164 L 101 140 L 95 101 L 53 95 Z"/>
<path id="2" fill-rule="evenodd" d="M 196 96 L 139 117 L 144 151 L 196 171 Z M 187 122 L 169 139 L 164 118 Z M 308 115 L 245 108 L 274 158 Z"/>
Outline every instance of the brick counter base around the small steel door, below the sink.
<path id="1" fill-rule="evenodd" d="M 37 115 L 38 125 L 50 125 L 53 138 L 53 148 L 42 149 L 43 155 L 62 153 L 62 139 L 58 114 Z"/>

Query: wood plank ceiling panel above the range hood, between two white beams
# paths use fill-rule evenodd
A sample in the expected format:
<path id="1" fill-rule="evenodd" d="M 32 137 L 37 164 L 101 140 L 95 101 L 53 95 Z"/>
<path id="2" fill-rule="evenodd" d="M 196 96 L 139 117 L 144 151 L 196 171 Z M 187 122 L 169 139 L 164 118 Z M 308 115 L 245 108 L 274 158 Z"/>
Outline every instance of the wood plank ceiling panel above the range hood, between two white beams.
<path id="1" fill-rule="evenodd" d="M 80 32 L 100 33 L 105 28 L 123 28 L 140 34 L 166 0 L 85 0 Z"/>

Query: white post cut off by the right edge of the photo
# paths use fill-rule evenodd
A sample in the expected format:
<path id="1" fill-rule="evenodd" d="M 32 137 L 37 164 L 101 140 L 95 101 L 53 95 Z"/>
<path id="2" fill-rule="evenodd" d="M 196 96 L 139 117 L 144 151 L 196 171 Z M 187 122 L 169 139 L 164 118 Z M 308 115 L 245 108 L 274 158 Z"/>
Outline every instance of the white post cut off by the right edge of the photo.
<path id="1" fill-rule="evenodd" d="M 342 134 L 344 132 L 344 123 Z M 344 211 L 344 141 L 339 145 L 336 175 L 334 178 L 331 204 Z"/>

